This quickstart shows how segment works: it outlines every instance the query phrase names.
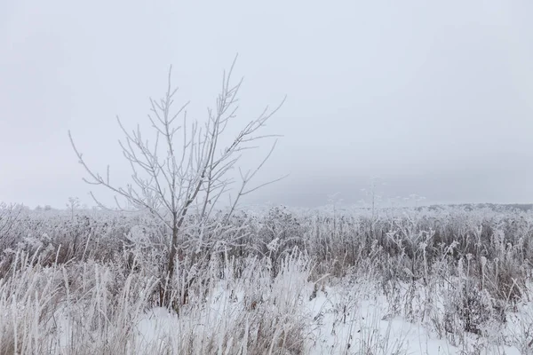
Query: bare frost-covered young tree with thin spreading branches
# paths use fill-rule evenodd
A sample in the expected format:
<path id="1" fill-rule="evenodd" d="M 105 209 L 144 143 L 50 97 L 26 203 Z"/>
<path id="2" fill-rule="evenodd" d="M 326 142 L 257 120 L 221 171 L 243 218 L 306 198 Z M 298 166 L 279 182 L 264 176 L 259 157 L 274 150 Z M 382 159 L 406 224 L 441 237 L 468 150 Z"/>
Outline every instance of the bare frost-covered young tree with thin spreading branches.
<path id="1" fill-rule="evenodd" d="M 117 196 L 123 197 L 128 206 L 146 209 L 169 228 L 171 233 L 165 275 L 167 280 L 171 280 L 174 274 L 179 233 L 182 232 L 187 215 L 194 210 L 196 221 L 200 224 L 206 223 L 221 197 L 237 182 L 235 178 L 230 177 L 229 172 L 237 167 L 243 151 L 256 148 L 259 140 L 277 137 L 260 135 L 259 130 L 265 127 L 268 119 L 282 103 L 273 110 L 269 110 L 267 106 L 259 116 L 244 125 L 227 146 L 221 146 L 220 140 L 225 137 L 228 123 L 235 119 L 238 108 L 237 94 L 243 83 L 242 79 L 232 83 L 234 66 L 235 60 L 229 72 L 224 72 L 216 107 L 208 109 L 207 119 L 203 124 L 188 120 L 188 102 L 174 109 L 177 89 L 171 84 L 171 69 L 163 98 L 150 99 L 151 109 L 147 118 L 155 133 L 153 141 L 144 137 L 139 125 L 131 132 L 126 130 L 123 122 L 117 117 L 125 136 L 119 143 L 132 172 L 131 182 L 126 185 L 115 185 L 110 181 L 109 167 L 105 176 L 102 176 L 87 166 L 83 154 L 78 151 L 70 131 L 68 132 L 78 160 L 88 173 L 88 178 L 84 178 L 85 182 L 103 185 L 115 193 L 118 209 L 124 207 Z M 236 187 L 233 201 L 230 199 L 227 218 L 235 211 L 241 197 L 281 179 L 249 187 L 251 179 L 272 154 L 275 143 L 276 140 L 256 169 L 245 173 L 239 169 L 240 185 Z M 94 194 L 91 193 L 91 196 L 100 207 L 104 207 Z M 167 300 L 167 306 L 170 305 L 168 302 Z"/>

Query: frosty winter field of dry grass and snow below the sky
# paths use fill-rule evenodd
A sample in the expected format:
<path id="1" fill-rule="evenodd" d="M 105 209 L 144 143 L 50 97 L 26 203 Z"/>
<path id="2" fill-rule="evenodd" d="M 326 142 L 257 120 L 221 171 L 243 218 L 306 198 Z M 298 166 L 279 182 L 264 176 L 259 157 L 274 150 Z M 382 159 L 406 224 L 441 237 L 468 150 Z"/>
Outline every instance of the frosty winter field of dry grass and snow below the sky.
<path id="1" fill-rule="evenodd" d="M 3 205 L 0 354 L 533 353 L 531 211 L 224 217 Z"/>

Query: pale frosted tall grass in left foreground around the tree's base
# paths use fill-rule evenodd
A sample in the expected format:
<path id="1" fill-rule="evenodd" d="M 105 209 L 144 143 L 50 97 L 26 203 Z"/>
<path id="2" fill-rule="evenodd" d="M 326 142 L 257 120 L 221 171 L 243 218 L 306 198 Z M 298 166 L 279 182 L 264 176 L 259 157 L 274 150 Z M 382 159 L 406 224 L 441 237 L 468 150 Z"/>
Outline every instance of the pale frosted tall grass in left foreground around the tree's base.
<path id="1" fill-rule="evenodd" d="M 311 285 L 301 253 L 285 257 L 274 278 L 269 263 L 247 260 L 239 279 L 195 289 L 179 315 L 149 306 L 154 280 L 117 280 L 113 265 L 35 262 L 16 256 L 0 284 L 0 354 L 302 353 L 305 345 Z"/>

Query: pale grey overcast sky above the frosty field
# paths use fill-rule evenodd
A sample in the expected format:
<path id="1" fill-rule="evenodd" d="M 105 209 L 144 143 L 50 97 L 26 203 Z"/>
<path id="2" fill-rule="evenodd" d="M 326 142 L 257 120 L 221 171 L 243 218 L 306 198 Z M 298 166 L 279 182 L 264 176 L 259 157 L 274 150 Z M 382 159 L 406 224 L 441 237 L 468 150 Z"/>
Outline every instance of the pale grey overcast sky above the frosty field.
<path id="1" fill-rule="evenodd" d="M 202 121 L 239 53 L 239 120 L 285 95 L 254 201 L 533 202 L 533 2 L 0 1 L 0 201 L 91 202 L 68 140 L 127 181 L 115 123 L 165 89 Z M 100 190 L 95 191 L 103 193 Z M 90 203 L 91 204 L 91 203 Z"/>

